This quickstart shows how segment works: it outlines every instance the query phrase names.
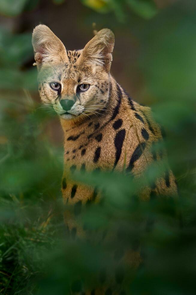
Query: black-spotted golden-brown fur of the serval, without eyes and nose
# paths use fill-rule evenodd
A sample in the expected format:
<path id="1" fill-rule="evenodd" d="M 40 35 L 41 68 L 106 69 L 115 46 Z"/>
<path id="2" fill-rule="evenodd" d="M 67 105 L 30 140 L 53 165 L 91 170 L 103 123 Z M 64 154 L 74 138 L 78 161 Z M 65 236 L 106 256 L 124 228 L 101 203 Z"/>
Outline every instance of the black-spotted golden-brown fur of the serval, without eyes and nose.
<path id="1" fill-rule="evenodd" d="M 70 170 L 125 168 L 137 179 L 149 163 L 159 165 L 165 152 L 151 150 L 153 143 L 162 140 L 162 135 L 152 120 L 150 108 L 133 101 L 109 73 L 114 47 L 114 34 L 110 30 L 99 31 L 83 50 L 66 51 L 52 31 L 40 25 L 34 29 L 32 43 L 41 99 L 52 104 L 64 130 L 62 193 L 66 202 L 82 206 L 88 200 L 99 200 L 94 188 L 70 179 Z M 51 89 L 51 82 L 61 84 L 60 93 Z M 79 93 L 80 84 L 90 87 Z M 75 101 L 69 113 L 63 113 L 63 99 Z M 147 200 L 152 192 L 171 195 L 176 191 L 174 175 L 165 168 L 153 186 L 140 188 L 140 197 Z M 76 228 L 77 234 L 84 234 L 73 216 L 67 213 L 66 220 L 70 230 Z M 137 265 L 139 253 L 135 255 L 137 262 L 129 260 Z"/>

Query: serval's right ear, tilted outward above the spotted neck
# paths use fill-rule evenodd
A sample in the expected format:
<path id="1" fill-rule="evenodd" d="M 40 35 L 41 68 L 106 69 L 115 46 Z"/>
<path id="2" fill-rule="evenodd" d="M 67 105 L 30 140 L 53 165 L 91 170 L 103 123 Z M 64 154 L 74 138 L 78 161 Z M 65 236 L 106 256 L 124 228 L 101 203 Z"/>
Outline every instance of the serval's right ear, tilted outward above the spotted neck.
<path id="1" fill-rule="evenodd" d="M 97 65 L 110 71 L 112 52 L 114 48 L 114 33 L 109 29 L 100 30 L 91 41 L 87 43 L 77 63 Z"/>

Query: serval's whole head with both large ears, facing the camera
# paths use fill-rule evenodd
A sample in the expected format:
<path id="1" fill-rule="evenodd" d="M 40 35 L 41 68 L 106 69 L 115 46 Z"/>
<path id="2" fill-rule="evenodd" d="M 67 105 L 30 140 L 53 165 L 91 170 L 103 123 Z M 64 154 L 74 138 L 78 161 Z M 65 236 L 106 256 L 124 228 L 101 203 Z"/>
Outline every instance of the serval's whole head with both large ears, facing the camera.
<path id="1" fill-rule="evenodd" d="M 34 29 L 32 40 L 43 103 L 52 105 L 65 120 L 104 113 L 110 91 L 113 33 L 103 29 L 83 50 L 74 51 L 66 51 L 44 25 Z"/>

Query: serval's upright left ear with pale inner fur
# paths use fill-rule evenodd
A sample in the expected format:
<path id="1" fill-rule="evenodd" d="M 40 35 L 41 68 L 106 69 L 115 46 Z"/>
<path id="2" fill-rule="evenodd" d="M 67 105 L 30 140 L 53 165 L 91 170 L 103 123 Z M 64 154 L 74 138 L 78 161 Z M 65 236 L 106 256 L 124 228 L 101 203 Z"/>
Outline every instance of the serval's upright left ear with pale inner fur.
<path id="1" fill-rule="evenodd" d="M 67 51 L 60 39 L 45 25 L 33 30 L 32 45 L 37 68 L 45 62 L 68 62 Z"/>

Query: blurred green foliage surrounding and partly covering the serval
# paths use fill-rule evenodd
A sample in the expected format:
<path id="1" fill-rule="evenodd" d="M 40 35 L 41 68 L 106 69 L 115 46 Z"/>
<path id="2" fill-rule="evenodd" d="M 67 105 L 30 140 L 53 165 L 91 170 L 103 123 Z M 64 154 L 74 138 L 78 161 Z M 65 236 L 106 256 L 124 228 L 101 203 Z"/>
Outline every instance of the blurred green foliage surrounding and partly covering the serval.
<path id="1" fill-rule="evenodd" d="M 63 149 L 46 132 L 53 113 L 34 99 L 37 72 L 27 67 L 33 56 L 31 32 L 10 32 L 2 26 L 0 293 L 61 295 L 92 287 L 98 284 L 98 270 L 113 269 L 111 250 L 131 247 L 140 250 L 144 261 L 138 269 L 126 269 L 127 294 L 195 294 L 195 3 L 182 1 L 158 10 L 154 1 L 147 0 L 81 2 L 100 13 L 104 22 L 108 17 L 106 23 L 114 33 L 119 29 L 123 36 L 123 30 L 131 27 L 144 76 L 141 94 L 167 135 L 154 148 L 163 144 L 167 148 L 179 197 L 142 202 L 135 197 L 138 185 L 127 175 L 76 173 L 73 177 L 96 185 L 105 198 L 80 216 L 94 239 L 67 236 L 60 191 Z M 15 17 L 38 4 L 5 0 L 0 13 Z M 115 24 L 110 23 L 113 14 Z M 127 67 L 129 63 L 125 76 Z M 140 181 L 152 183 L 158 174 L 152 165 Z M 118 231 L 118 239 L 99 243 L 99 232 L 105 230 Z"/>

